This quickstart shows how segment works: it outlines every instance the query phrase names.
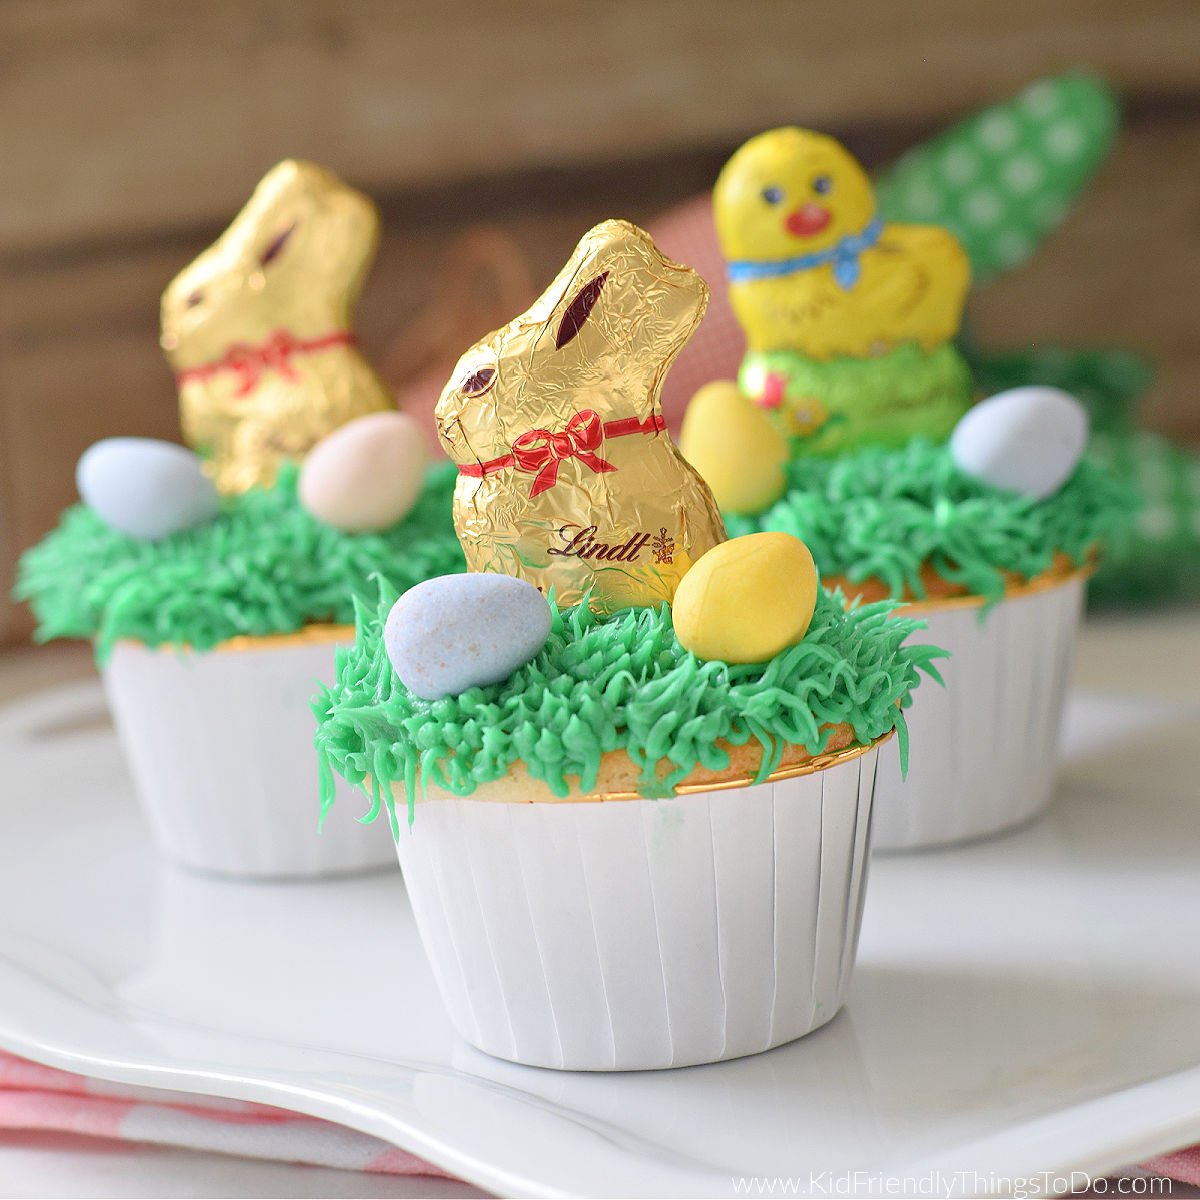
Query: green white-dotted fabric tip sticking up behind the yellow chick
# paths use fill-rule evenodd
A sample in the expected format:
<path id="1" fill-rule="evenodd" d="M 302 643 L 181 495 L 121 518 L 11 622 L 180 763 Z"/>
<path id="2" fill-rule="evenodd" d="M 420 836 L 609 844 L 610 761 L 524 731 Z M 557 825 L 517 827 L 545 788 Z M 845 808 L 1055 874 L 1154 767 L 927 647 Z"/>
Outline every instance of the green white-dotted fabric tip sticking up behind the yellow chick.
<path id="1" fill-rule="evenodd" d="M 1112 146 L 1117 103 L 1084 72 L 1043 79 L 901 157 L 876 184 L 888 221 L 940 224 L 976 282 L 1027 262 Z"/>

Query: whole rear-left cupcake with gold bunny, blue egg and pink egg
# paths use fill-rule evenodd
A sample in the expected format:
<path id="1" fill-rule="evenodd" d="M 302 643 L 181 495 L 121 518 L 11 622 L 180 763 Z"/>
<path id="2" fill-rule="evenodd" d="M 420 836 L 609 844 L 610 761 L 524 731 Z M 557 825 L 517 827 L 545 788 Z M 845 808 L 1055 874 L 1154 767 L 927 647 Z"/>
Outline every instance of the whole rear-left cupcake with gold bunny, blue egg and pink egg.
<path id="1" fill-rule="evenodd" d="M 20 564 L 38 640 L 95 641 L 151 830 L 191 866 L 319 875 L 391 854 L 352 804 L 318 834 L 307 698 L 374 575 L 404 588 L 464 564 L 454 469 L 428 466 L 350 332 L 376 235 L 328 172 L 271 170 L 163 298 L 194 449 L 91 446 L 82 503 Z"/>

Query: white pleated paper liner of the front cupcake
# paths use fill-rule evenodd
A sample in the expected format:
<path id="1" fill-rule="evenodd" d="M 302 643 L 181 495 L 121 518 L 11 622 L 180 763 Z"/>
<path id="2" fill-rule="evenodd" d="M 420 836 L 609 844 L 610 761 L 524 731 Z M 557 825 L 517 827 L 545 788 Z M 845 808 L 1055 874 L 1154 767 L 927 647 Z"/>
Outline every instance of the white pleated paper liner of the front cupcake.
<path id="1" fill-rule="evenodd" d="M 418 804 L 397 848 L 458 1032 L 529 1066 L 646 1070 L 824 1025 L 854 961 L 877 758 L 662 800 Z"/>

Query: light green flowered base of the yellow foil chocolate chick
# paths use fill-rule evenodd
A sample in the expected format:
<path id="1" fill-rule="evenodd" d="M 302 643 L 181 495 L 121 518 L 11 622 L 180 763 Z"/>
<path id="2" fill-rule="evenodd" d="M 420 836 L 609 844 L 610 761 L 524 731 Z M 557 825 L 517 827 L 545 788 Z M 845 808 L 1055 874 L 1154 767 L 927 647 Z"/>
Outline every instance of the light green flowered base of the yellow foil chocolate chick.
<path id="1" fill-rule="evenodd" d="M 764 410 L 797 455 L 841 452 L 864 443 L 900 445 L 913 437 L 941 440 L 972 397 L 971 372 L 950 343 L 926 352 L 905 342 L 875 358 L 826 362 L 788 350 L 750 353 L 738 383 L 757 397 L 772 374 L 782 380 L 782 403 Z M 814 414 L 820 414 L 816 422 Z"/>

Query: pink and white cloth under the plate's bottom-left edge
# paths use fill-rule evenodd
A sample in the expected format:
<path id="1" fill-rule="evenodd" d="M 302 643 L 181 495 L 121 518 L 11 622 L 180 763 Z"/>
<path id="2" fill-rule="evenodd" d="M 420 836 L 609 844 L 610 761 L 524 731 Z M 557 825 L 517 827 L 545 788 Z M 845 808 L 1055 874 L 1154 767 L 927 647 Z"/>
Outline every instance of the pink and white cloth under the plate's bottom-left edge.
<path id="1" fill-rule="evenodd" d="M 448 1177 L 378 1138 L 299 1112 L 108 1084 L 0 1051 L 0 1129 L 176 1146 L 347 1171 Z"/>

